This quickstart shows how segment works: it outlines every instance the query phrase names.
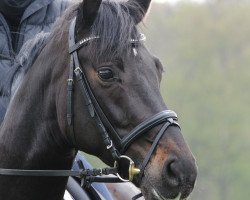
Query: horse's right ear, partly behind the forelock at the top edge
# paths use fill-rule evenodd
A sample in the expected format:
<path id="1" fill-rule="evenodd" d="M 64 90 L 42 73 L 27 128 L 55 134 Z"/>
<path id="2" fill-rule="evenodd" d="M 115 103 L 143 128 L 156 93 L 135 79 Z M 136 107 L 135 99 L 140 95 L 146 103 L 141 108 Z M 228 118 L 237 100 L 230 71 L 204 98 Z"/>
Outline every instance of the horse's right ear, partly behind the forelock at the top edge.
<path id="1" fill-rule="evenodd" d="M 127 3 L 130 14 L 134 17 L 135 23 L 138 24 L 147 13 L 151 0 L 129 0 Z"/>

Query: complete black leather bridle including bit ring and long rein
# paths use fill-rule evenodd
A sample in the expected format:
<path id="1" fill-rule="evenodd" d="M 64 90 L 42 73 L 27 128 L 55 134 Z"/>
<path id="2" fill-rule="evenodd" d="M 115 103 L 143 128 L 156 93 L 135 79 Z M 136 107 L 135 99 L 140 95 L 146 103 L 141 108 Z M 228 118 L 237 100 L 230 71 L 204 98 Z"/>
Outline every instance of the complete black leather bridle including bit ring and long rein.
<path id="1" fill-rule="evenodd" d="M 177 123 L 177 115 L 174 111 L 164 110 L 159 112 L 152 117 L 146 119 L 141 124 L 136 126 L 128 135 L 121 138 L 121 136 L 117 133 L 115 128 L 112 126 L 112 123 L 108 120 L 105 113 L 103 112 L 101 106 L 99 105 L 97 99 L 95 98 L 90 84 L 87 80 L 87 77 L 84 73 L 84 68 L 80 66 L 80 62 L 78 59 L 77 51 L 88 45 L 89 42 L 95 39 L 100 39 L 100 36 L 93 36 L 89 38 L 84 38 L 79 42 L 75 42 L 75 23 L 76 18 L 74 18 L 70 24 L 69 28 L 69 54 L 70 54 L 70 70 L 69 70 L 69 78 L 67 80 L 67 123 L 68 123 L 68 133 L 73 145 L 77 148 L 77 140 L 75 137 L 74 131 L 74 113 L 73 113 L 73 90 L 74 84 L 78 84 L 80 88 L 80 92 L 84 98 L 85 106 L 89 112 L 90 117 L 95 121 L 96 126 L 99 129 L 100 135 L 104 141 L 106 148 L 111 152 L 111 155 L 115 161 L 115 166 L 113 168 L 105 168 L 105 169 L 93 169 L 93 170 L 84 170 L 83 167 L 80 171 L 71 171 L 71 170 L 22 170 L 22 169 L 3 169 L 0 168 L 1 175 L 10 175 L 10 176 L 77 176 L 81 179 L 87 179 L 89 182 L 107 182 L 104 179 L 100 179 L 100 177 L 93 176 L 101 176 L 106 174 L 117 174 L 121 181 L 132 180 L 135 174 L 139 173 L 138 179 L 144 175 L 145 167 L 154 150 L 156 149 L 161 137 L 164 132 L 170 126 L 180 127 Z M 144 35 L 140 35 L 139 39 L 132 39 L 131 45 L 135 47 L 137 43 L 141 40 L 144 40 Z M 156 135 L 150 150 L 144 158 L 144 161 L 141 163 L 139 169 L 134 169 L 134 162 L 131 158 L 124 155 L 127 149 L 133 144 L 139 137 L 153 129 L 154 127 L 162 125 L 159 133 Z M 111 139 L 112 138 L 112 139 Z M 114 141 L 114 142 L 113 142 Z M 129 170 L 129 178 L 124 179 L 119 174 L 119 167 L 123 162 L 121 160 L 129 161 L 128 170 Z M 140 171 L 140 172 L 139 172 Z M 130 174 L 131 173 L 131 174 Z M 133 174 L 134 173 L 134 174 Z M 131 175 L 131 176 L 130 176 Z M 109 179 L 110 180 L 110 179 Z M 117 182 L 117 179 L 111 179 L 110 182 Z"/>

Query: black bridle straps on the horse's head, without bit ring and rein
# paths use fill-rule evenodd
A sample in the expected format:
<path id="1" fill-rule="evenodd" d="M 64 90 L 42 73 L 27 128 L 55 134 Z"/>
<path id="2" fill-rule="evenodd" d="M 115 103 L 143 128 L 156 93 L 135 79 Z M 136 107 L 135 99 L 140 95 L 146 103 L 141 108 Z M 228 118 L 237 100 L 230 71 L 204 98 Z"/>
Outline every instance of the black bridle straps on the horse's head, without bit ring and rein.
<path id="1" fill-rule="evenodd" d="M 129 148 L 131 144 L 135 142 L 136 139 L 141 137 L 143 134 L 147 133 L 149 130 L 154 127 L 163 124 L 161 130 L 155 137 L 155 140 L 147 153 L 143 163 L 140 166 L 140 175 L 142 178 L 145 167 L 147 166 L 150 157 L 152 156 L 155 148 L 157 147 L 159 140 L 163 136 L 166 129 L 171 126 L 179 127 L 177 123 L 177 115 L 174 111 L 164 110 L 162 112 L 153 115 L 152 117 L 146 119 L 141 124 L 136 126 L 127 136 L 121 138 L 117 133 L 115 128 L 112 126 L 111 122 L 108 120 L 106 115 L 104 114 L 102 108 L 100 107 L 97 99 L 95 98 L 92 89 L 89 85 L 89 82 L 84 74 L 84 68 L 80 66 L 80 62 L 78 59 L 77 51 L 88 45 L 91 40 L 99 39 L 99 36 L 93 36 L 89 38 L 85 38 L 75 43 L 75 21 L 74 18 L 71 22 L 69 28 L 69 53 L 70 53 L 70 73 L 68 79 L 68 126 L 69 126 L 69 134 L 74 141 L 74 145 L 77 146 L 77 141 L 75 139 L 74 130 L 73 130 L 73 80 L 74 75 L 76 77 L 76 82 L 80 87 L 80 91 L 84 98 L 84 102 L 86 107 L 88 108 L 89 114 L 92 119 L 96 122 L 97 127 L 99 128 L 99 132 L 103 138 L 104 144 L 106 148 L 110 150 L 112 157 L 115 161 L 121 158 L 126 150 Z M 132 39 L 131 46 L 134 48 L 140 41 L 145 40 L 144 35 L 140 35 L 139 39 Z M 136 55 L 135 55 L 136 56 Z M 112 138 L 112 140 L 111 140 Z M 114 140 L 114 142 L 113 142 Z"/>

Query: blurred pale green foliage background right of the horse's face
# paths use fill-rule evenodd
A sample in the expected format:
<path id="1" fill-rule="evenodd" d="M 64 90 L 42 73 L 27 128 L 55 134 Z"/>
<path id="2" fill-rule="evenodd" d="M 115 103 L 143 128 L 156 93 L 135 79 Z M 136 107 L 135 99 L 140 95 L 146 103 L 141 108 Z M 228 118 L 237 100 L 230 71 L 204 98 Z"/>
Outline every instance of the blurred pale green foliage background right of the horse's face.
<path id="1" fill-rule="evenodd" d="M 250 3 L 153 4 L 144 32 L 199 167 L 192 200 L 250 197 Z"/>

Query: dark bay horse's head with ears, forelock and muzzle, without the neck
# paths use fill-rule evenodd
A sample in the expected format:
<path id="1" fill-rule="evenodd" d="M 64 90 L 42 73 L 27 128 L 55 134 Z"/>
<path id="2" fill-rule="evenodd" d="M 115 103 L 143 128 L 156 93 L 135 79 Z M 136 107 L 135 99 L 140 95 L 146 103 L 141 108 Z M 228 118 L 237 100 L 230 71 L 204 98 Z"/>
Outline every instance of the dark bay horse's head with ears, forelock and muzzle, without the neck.
<path id="1" fill-rule="evenodd" d="M 76 65 L 72 77 L 80 84 L 75 83 L 74 117 L 69 117 L 74 133 L 68 140 L 108 165 L 123 154 L 131 158 L 141 168 L 133 182 L 146 199 L 184 199 L 194 187 L 197 167 L 177 116 L 160 94 L 162 64 L 137 28 L 149 5 L 150 0 L 79 4 L 69 33 L 70 65 Z M 111 142 L 105 143 L 106 133 L 101 137 L 100 131 Z"/>

